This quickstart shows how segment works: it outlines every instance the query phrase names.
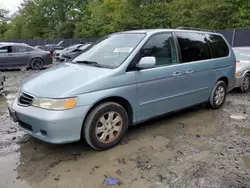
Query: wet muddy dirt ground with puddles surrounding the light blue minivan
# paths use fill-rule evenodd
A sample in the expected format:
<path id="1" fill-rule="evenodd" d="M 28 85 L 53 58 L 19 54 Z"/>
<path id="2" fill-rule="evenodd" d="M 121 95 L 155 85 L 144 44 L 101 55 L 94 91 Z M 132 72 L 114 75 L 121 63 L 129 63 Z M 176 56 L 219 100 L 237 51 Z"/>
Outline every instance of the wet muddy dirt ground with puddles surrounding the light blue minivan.
<path id="1" fill-rule="evenodd" d="M 250 187 L 250 96 L 231 92 L 220 110 L 195 107 L 130 128 L 105 152 L 51 145 L 12 123 L 6 102 L 33 71 L 4 72 L 0 97 L 0 188 Z M 107 185 L 105 177 L 117 178 Z"/>

